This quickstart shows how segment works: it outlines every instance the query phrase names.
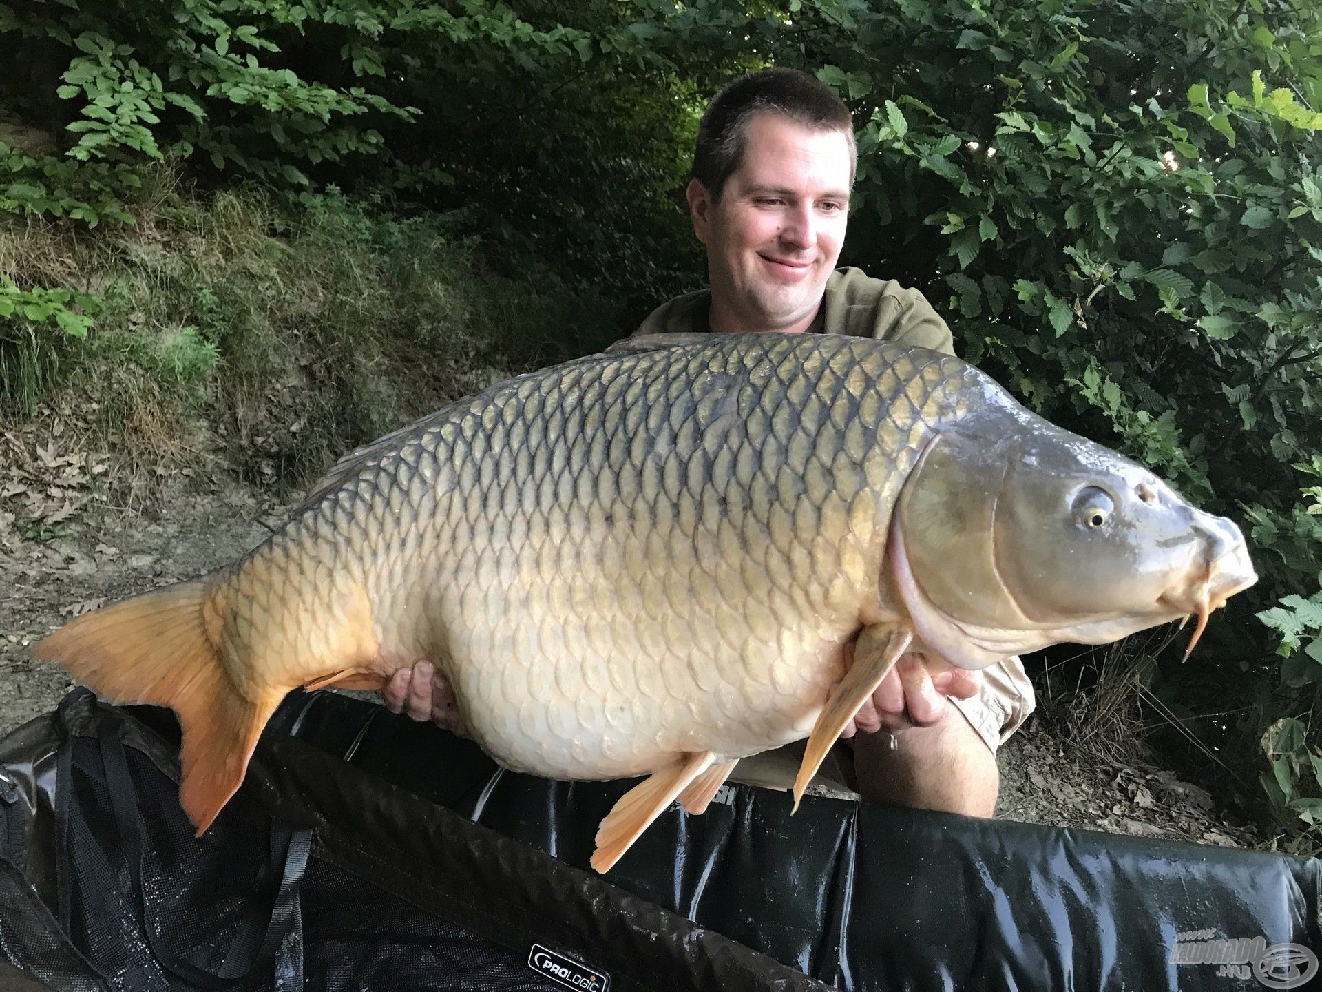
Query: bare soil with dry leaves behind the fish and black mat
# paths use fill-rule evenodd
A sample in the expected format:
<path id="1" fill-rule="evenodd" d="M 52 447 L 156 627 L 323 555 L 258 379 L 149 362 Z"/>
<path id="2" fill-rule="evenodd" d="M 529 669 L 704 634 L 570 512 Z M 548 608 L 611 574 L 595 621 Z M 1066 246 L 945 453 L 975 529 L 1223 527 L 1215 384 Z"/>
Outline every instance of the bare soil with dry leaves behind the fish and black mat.
<path id="1" fill-rule="evenodd" d="M 149 500 L 116 505 L 108 459 L 86 450 L 79 417 L 44 411 L 0 429 L 0 734 L 73 688 L 30 645 L 103 602 L 205 574 L 260 544 L 290 505 L 214 460 L 153 479 Z M 123 483 L 123 480 L 120 480 Z M 1155 762 L 1100 767 L 1030 721 L 1002 749 L 998 815 L 1224 847 L 1264 837 L 1229 823 L 1212 796 Z"/>

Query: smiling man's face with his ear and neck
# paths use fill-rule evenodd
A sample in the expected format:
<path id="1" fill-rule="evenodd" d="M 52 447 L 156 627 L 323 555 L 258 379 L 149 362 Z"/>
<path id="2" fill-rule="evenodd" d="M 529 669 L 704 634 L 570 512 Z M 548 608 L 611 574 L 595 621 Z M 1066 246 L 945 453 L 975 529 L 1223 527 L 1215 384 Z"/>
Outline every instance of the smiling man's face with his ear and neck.
<path id="1" fill-rule="evenodd" d="M 845 243 L 850 156 L 843 131 L 775 112 L 748 122 L 744 159 L 714 202 L 689 184 L 693 229 L 707 246 L 719 329 L 802 329 Z M 718 329 L 718 328 L 714 328 Z"/>

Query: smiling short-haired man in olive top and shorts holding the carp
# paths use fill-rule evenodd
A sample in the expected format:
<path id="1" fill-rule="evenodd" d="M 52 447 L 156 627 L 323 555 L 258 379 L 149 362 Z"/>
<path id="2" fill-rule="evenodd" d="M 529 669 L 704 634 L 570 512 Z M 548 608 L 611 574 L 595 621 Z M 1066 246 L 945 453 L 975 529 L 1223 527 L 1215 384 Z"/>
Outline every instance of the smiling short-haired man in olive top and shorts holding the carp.
<path id="1" fill-rule="evenodd" d="M 698 127 L 687 188 L 711 287 L 661 306 L 636 333 L 845 333 L 953 353 L 949 328 L 921 294 L 836 271 L 855 165 L 849 110 L 813 77 L 769 69 L 722 90 Z M 428 663 L 397 673 L 385 697 L 397 713 L 461 730 Z M 842 734 L 863 731 L 853 776 L 847 763 L 837 775 L 871 800 L 992 816 L 995 750 L 1031 709 L 1018 659 L 973 675 L 906 656 Z M 755 780 L 788 784 L 777 775 Z"/>

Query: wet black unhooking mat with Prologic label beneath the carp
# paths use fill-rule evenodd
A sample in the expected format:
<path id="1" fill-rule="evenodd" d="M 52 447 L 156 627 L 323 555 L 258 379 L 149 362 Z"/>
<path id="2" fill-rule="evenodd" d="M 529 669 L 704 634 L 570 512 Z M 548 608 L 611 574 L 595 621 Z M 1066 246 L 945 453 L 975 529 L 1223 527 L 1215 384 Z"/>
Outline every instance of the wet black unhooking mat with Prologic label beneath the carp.
<path id="1" fill-rule="evenodd" d="M 501 771 L 332 693 L 286 701 L 194 840 L 176 743 L 81 689 L 0 741 L 0 989 L 1319 984 L 1315 860 L 728 786 L 603 878 L 631 783 Z"/>

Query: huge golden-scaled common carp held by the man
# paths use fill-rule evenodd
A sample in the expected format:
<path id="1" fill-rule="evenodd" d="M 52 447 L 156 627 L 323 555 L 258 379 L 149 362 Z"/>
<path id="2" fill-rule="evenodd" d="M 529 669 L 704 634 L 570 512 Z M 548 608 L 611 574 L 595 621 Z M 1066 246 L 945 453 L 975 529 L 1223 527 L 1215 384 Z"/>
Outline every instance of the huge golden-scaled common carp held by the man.
<path id="1" fill-rule="evenodd" d="M 982 668 L 1190 614 L 1202 632 L 1255 579 L 1232 522 L 957 358 L 640 339 L 353 452 L 234 565 L 37 653 L 175 708 L 198 833 L 290 689 L 430 657 L 501 765 L 649 775 L 602 823 L 605 870 L 673 800 L 701 812 L 738 759 L 808 737 L 797 802 L 907 649 Z"/>

